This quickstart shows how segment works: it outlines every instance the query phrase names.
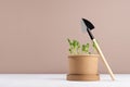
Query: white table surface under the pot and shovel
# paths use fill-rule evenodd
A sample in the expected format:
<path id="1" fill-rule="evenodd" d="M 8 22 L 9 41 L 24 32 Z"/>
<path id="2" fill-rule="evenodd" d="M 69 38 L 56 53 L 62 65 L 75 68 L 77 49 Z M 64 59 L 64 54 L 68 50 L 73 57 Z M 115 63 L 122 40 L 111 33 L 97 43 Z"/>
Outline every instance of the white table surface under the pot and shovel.
<path id="1" fill-rule="evenodd" d="M 130 87 L 130 74 L 101 74 L 99 82 L 70 82 L 66 74 L 0 74 L 0 87 Z"/>

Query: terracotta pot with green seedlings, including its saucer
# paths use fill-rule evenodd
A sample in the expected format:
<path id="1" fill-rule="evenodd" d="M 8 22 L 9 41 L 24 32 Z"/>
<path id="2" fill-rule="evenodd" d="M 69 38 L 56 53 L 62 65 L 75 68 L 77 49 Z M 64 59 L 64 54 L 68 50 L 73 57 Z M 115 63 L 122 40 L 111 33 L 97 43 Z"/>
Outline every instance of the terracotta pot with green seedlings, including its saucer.
<path id="1" fill-rule="evenodd" d="M 78 40 L 67 39 L 69 44 L 69 70 L 68 80 L 99 80 L 98 62 L 99 54 L 90 52 L 90 44 L 80 45 Z M 96 49 L 94 44 L 93 50 Z"/>

